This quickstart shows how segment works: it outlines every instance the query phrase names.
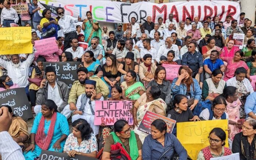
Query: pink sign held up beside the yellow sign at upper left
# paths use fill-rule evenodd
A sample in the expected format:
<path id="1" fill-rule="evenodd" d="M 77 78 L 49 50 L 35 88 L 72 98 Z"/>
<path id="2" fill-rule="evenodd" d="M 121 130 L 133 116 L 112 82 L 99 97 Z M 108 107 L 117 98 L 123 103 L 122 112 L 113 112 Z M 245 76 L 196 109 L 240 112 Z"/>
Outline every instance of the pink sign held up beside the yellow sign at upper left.
<path id="1" fill-rule="evenodd" d="M 35 55 L 52 54 L 58 51 L 55 37 L 35 41 Z"/>

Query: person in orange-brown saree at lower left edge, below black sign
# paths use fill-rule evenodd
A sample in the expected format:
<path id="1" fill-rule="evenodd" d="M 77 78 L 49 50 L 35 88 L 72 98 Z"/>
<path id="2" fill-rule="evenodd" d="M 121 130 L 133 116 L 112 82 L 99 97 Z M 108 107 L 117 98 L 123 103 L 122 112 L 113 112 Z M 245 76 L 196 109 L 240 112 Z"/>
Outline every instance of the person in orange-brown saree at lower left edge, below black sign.
<path id="1" fill-rule="evenodd" d="M 15 142 L 21 147 L 22 150 L 25 150 L 29 146 L 28 138 L 28 125 L 21 117 L 16 117 L 13 114 L 13 110 L 8 105 L 2 105 L 2 107 L 7 107 L 11 114 L 11 126 L 9 128 L 9 134 Z M 0 158 L 1 159 L 1 158 Z"/>

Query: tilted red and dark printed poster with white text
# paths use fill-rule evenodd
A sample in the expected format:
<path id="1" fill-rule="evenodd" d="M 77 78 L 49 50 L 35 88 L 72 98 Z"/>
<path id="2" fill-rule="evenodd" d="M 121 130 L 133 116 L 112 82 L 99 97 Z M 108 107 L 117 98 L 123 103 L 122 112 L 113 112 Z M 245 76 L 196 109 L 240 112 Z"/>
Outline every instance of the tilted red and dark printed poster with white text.
<path id="1" fill-rule="evenodd" d="M 145 134 L 150 134 L 151 133 L 151 123 L 156 120 L 156 119 L 161 119 L 164 120 L 167 124 L 167 132 L 171 133 L 173 132 L 174 125 L 176 123 L 175 120 L 167 118 L 165 116 L 161 116 L 160 114 L 156 114 L 150 111 L 146 111 L 143 119 L 141 120 L 141 123 L 139 124 L 137 130 L 141 131 Z"/>

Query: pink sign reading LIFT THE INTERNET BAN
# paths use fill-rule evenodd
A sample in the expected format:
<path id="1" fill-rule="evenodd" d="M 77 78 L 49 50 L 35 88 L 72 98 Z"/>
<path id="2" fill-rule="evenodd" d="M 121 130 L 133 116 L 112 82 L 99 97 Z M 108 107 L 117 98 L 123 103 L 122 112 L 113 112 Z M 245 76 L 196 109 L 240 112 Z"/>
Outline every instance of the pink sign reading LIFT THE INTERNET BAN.
<path id="1" fill-rule="evenodd" d="M 94 125 L 114 125 L 120 119 L 133 125 L 133 117 L 129 111 L 131 108 L 131 101 L 95 101 Z"/>

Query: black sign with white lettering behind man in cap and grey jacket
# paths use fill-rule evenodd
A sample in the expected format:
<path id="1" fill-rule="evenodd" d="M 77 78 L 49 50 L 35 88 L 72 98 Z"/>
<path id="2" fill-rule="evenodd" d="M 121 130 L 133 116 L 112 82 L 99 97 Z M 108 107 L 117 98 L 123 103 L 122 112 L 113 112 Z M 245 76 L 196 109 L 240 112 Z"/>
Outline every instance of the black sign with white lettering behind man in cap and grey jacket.
<path id="1" fill-rule="evenodd" d="M 43 70 L 53 66 L 56 70 L 56 80 L 63 81 L 70 89 L 74 81 L 78 80 L 77 69 L 81 62 L 43 62 Z"/>

